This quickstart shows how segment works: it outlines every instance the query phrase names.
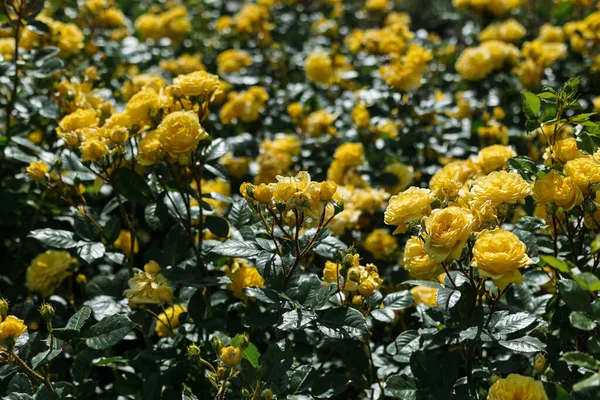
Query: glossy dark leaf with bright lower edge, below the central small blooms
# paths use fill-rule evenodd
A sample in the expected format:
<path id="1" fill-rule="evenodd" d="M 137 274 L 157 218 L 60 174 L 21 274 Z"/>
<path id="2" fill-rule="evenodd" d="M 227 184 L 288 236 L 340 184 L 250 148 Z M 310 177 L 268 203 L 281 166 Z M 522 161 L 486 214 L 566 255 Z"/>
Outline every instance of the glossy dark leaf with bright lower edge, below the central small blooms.
<path id="1" fill-rule="evenodd" d="M 325 336 L 334 339 L 356 339 L 368 332 L 367 321 L 360 311 L 354 308 L 334 308 L 321 313 L 317 328 Z"/>

